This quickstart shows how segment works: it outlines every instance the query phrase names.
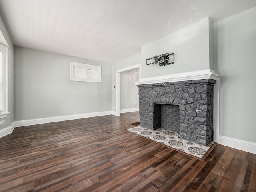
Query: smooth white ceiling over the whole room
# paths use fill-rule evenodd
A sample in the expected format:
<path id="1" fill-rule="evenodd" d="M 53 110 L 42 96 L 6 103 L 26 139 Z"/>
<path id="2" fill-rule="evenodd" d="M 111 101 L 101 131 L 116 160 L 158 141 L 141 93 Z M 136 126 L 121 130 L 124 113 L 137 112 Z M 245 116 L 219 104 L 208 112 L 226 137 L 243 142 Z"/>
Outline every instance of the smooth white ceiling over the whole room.
<path id="1" fill-rule="evenodd" d="M 14 45 L 112 63 L 203 18 L 216 22 L 255 6 L 256 0 L 0 0 L 0 14 Z"/>

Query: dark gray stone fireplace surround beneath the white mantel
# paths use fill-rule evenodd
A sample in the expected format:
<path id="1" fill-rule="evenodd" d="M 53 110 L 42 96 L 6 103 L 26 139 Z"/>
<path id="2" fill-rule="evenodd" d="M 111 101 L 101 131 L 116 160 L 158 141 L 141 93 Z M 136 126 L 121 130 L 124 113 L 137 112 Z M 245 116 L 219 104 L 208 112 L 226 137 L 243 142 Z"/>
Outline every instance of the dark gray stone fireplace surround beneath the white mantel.
<path id="1" fill-rule="evenodd" d="M 161 106 L 163 104 L 178 105 L 180 138 L 207 146 L 213 141 L 214 84 L 213 79 L 203 79 L 137 85 L 140 126 L 150 130 L 160 128 Z M 172 107 L 167 108 L 172 109 Z M 171 117 L 173 112 L 169 114 L 170 119 L 177 119 L 177 116 Z M 164 122 L 167 122 L 166 117 L 164 118 Z"/>

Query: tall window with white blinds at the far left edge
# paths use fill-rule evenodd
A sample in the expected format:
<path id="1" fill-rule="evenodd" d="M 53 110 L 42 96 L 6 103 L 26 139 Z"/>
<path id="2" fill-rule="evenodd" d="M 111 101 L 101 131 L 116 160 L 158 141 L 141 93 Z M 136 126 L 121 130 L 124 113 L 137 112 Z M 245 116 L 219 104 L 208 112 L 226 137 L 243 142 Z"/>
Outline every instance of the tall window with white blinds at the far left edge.
<path id="1" fill-rule="evenodd" d="M 0 118 L 7 117 L 8 92 L 7 92 L 7 53 L 8 48 L 0 44 Z"/>

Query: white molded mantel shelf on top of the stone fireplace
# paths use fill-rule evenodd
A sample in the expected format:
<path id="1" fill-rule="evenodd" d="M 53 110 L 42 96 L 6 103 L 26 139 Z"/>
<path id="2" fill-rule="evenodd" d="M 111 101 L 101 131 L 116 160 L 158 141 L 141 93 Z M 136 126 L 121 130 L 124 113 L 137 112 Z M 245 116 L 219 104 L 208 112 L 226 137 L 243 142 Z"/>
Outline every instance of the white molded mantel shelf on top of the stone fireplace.
<path id="1" fill-rule="evenodd" d="M 150 77 L 150 78 L 141 78 L 140 81 L 135 82 L 135 84 L 144 85 L 144 84 L 189 81 L 189 80 L 200 80 L 200 79 L 219 80 L 219 78 L 220 76 L 216 74 L 214 70 L 204 69 L 204 70 L 156 76 L 156 77 Z"/>

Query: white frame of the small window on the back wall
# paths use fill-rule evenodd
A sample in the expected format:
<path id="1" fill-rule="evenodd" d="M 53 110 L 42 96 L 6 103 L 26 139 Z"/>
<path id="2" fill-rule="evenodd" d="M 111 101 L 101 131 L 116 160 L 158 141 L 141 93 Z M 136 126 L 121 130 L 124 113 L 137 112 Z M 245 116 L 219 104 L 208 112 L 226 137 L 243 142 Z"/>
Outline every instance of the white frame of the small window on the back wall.
<path id="1" fill-rule="evenodd" d="M 75 68 L 82 68 L 84 70 L 96 70 L 98 73 L 97 78 L 77 77 L 75 74 Z M 71 81 L 86 81 L 86 82 L 98 82 L 101 83 L 101 66 L 89 65 L 84 63 L 70 62 L 70 80 Z"/>

